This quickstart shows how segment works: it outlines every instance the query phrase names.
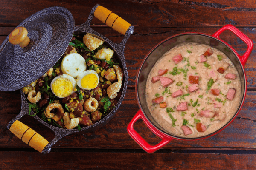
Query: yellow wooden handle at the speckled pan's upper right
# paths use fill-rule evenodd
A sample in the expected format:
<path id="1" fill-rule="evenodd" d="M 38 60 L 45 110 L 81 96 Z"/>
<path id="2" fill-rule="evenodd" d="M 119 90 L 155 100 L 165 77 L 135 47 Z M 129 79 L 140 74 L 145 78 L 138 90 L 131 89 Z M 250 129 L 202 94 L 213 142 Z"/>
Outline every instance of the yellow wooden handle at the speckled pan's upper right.
<path id="1" fill-rule="evenodd" d="M 109 11 L 107 8 L 104 8 L 103 6 L 98 6 L 96 8 L 94 16 L 102 21 L 102 23 L 105 23 L 123 35 L 125 35 L 127 29 L 129 26 L 131 26 L 131 24 L 126 22 L 124 19 Z"/>

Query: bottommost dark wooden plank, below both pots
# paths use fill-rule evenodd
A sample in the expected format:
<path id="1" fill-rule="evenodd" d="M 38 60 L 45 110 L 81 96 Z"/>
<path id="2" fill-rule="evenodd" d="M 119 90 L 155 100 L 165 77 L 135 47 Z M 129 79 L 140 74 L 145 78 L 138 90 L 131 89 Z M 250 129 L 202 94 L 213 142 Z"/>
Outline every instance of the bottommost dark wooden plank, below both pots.
<path id="1" fill-rule="evenodd" d="M 255 154 L 0 152 L 1 169 L 50 170 L 252 170 Z M 53 161 L 54 160 L 54 161 Z"/>

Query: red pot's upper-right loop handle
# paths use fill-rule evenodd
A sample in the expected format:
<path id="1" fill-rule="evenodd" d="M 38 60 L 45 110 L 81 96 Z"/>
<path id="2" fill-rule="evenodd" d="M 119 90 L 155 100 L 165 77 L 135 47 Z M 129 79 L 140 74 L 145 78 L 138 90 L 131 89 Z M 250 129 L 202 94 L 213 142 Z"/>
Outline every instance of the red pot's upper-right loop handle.
<path id="1" fill-rule="evenodd" d="M 247 50 L 246 50 L 246 52 L 244 53 L 244 55 L 242 55 L 242 56 L 240 56 L 240 55 L 236 52 L 236 50 L 235 50 L 234 48 L 232 48 L 230 45 L 227 44 L 228 46 L 230 46 L 230 48 L 232 48 L 232 50 L 233 50 L 233 51 L 236 53 L 236 55 L 239 57 L 239 59 L 240 59 L 242 65 L 243 65 L 243 67 L 244 67 L 244 65 L 245 65 L 245 63 L 246 63 L 246 61 L 247 61 L 247 59 L 248 59 L 250 53 L 251 53 L 252 50 L 253 50 L 253 41 L 252 41 L 250 38 L 248 38 L 244 33 L 242 33 L 239 29 L 237 29 L 235 26 L 230 25 L 230 24 L 228 24 L 228 25 L 222 27 L 222 28 L 219 29 L 217 32 L 215 32 L 212 36 L 213 36 L 213 37 L 216 37 L 216 38 L 218 38 L 218 39 L 220 39 L 220 34 L 221 34 L 223 31 L 225 31 L 225 30 L 230 30 L 230 31 L 233 32 L 237 37 L 239 37 L 241 40 L 243 40 L 243 41 L 245 42 L 245 44 L 247 44 L 247 46 L 248 46 L 248 47 L 247 47 Z"/>

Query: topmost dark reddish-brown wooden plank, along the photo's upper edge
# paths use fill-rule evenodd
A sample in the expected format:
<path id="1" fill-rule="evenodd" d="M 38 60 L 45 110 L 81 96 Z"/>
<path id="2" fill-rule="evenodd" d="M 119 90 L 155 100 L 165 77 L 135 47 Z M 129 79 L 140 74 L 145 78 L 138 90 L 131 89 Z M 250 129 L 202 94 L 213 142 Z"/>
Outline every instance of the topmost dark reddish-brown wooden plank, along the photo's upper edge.
<path id="1" fill-rule="evenodd" d="M 223 3 L 220 0 L 208 3 L 199 0 L 97 1 L 97 3 L 127 20 L 128 23 L 140 26 L 255 25 L 256 6 L 253 1 L 250 2 L 241 5 L 241 2 L 238 2 L 238 0 L 230 3 Z M 76 24 L 80 25 L 85 23 L 91 8 L 95 5 L 94 1 L 20 0 L 17 3 L 16 1 L 2 0 L 0 6 L 0 26 L 17 26 L 35 12 L 51 6 L 67 8 L 73 14 Z M 93 23 L 102 24 L 99 20 L 95 19 L 93 19 Z"/>

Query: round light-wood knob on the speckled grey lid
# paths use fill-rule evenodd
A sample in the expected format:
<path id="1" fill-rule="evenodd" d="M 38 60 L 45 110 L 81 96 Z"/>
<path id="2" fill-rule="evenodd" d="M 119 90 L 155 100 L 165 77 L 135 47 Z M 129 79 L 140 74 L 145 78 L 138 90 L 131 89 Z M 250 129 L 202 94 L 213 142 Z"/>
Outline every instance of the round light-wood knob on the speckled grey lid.
<path id="1" fill-rule="evenodd" d="M 11 44 L 13 45 L 18 44 L 22 48 L 26 47 L 30 42 L 30 39 L 28 37 L 28 31 L 26 30 L 26 28 L 15 28 L 9 35 L 9 42 L 11 42 Z"/>

